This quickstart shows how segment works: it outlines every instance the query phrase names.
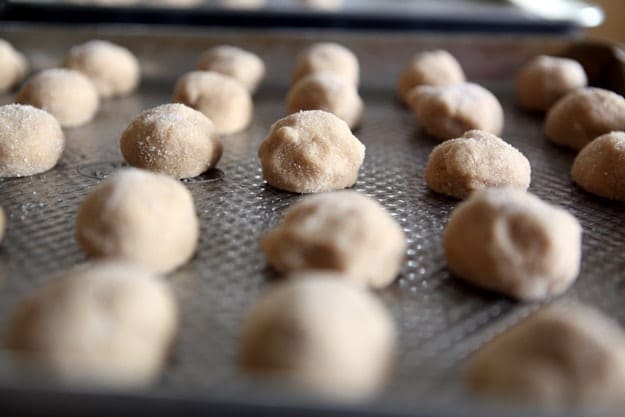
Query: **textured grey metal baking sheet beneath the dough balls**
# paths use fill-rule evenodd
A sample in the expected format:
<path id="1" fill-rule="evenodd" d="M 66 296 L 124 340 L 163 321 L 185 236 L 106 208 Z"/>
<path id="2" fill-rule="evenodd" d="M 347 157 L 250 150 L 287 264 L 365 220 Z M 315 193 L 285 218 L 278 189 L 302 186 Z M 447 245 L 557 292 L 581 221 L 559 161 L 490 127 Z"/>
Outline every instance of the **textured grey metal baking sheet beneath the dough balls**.
<path id="1" fill-rule="evenodd" d="M 67 149 L 56 168 L 0 180 L 0 205 L 8 214 L 8 233 L 0 246 L 3 332 L 23 296 L 52 273 L 86 260 L 74 240 L 76 211 L 84 195 L 122 164 L 118 138 L 133 116 L 168 102 L 176 77 L 192 69 L 199 53 L 212 45 L 229 43 L 255 51 L 268 69 L 254 98 L 251 126 L 223 137 L 225 151 L 217 171 L 185 182 L 201 218 L 201 240 L 195 258 L 169 276 L 182 308 L 182 328 L 162 381 L 141 393 L 77 392 L 24 377 L 8 353 L 0 352 L 0 403 L 6 415 L 159 416 L 181 410 L 189 416 L 234 410 L 241 415 L 314 415 L 320 410 L 327 415 L 516 415 L 513 408 L 491 409 L 492 404 L 474 402 L 463 390 L 462 376 L 472 352 L 538 306 L 450 277 L 441 231 L 457 201 L 426 188 L 425 163 L 438 142 L 419 129 L 395 97 L 397 74 L 409 57 L 438 47 L 455 54 L 469 79 L 490 88 L 502 102 L 502 136 L 531 161 L 530 190 L 568 208 L 584 227 L 582 270 L 563 298 L 597 306 L 625 325 L 623 205 L 573 186 L 569 170 L 574 154 L 545 139 L 541 117 L 517 109 L 511 82 L 518 67 L 537 53 L 573 54 L 586 65 L 594 84 L 622 93 L 622 51 L 616 48 L 553 38 L 154 27 L 5 25 L 0 37 L 23 50 L 34 69 L 58 65 L 76 43 L 110 39 L 133 50 L 144 72 L 136 94 L 104 102 L 92 123 L 66 130 Z M 285 115 L 283 99 L 295 54 L 319 40 L 339 41 L 360 59 L 366 110 L 356 135 L 367 154 L 354 188 L 380 201 L 408 238 L 401 274 L 379 292 L 401 333 L 393 377 L 377 400 L 355 408 L 294 396 L 279 383 L 249 381 L 235 365 L 245 313 L 274 278 L 259 251 L 259 237 L 300 198 L 263 182 L 256 151 L 270 125 Z M 8 94 L 1 102 L 11 99 Z"/>

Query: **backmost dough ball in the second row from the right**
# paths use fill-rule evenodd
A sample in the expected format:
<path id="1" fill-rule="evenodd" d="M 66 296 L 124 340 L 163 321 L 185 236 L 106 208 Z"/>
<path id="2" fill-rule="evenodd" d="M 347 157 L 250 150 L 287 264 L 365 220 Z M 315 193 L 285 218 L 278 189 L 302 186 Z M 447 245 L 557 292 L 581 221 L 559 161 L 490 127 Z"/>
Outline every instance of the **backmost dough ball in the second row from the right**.
<path id="1" fill-rule="evenodd" d="M 452 85 L 465 82 L 464 71 L 452 54 L 443 50 L 426 51 L 415 55 L 402 71 L 397 91 L 402 100 L 420 85 Z"/>

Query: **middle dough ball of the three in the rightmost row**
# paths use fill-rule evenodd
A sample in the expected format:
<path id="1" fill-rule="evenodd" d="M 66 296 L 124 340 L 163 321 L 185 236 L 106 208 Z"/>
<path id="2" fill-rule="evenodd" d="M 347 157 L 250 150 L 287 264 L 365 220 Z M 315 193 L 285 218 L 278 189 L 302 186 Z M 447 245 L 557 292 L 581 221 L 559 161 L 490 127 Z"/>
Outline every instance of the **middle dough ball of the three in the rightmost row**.
<path id="1" fill-rule="evenodd" d="M 594 87 L 561 98 L 545 122 L 545 133 L 552 142 L 575 150 L 615 130 L 625 130 L 625 98 Z"/>

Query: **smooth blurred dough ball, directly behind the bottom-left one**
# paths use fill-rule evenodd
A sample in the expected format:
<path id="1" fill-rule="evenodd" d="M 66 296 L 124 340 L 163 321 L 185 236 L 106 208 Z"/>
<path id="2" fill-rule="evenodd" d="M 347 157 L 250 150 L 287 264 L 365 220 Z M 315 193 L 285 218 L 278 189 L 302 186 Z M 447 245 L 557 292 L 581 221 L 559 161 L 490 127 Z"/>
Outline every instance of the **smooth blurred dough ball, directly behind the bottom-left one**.
<path id="1" fill-rule="evenodd" d="M 87 254 L 169 272 L 197 247 L 191 193 L 178 181 L 135 168 L 102 181 L 78 210 L 76 238 Z"/>

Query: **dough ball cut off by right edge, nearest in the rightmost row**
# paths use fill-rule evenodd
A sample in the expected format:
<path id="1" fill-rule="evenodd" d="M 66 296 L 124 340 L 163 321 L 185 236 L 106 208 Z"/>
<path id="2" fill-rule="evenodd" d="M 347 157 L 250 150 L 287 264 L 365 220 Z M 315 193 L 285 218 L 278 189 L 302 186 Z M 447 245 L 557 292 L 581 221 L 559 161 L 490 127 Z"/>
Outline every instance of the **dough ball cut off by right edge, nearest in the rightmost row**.
<path id="1" fill-rule="evenodd" d="M 575 158 L 573 180 L 584 190 L 625 201 L 625 132 L 612 132 L 590 142 Z"/>

